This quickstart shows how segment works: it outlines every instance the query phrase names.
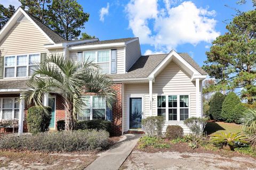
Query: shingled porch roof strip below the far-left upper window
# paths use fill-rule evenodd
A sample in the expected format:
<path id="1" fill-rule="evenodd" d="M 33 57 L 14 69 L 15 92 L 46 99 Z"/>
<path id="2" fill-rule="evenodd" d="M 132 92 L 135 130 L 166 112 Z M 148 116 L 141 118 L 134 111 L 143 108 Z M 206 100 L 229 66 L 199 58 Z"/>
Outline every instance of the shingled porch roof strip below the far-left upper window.
<path id="1" fill-rule="evenodd" d="M 2 80 L 0 81 L 0 89 L 27 89 L 28 80 Z"/>

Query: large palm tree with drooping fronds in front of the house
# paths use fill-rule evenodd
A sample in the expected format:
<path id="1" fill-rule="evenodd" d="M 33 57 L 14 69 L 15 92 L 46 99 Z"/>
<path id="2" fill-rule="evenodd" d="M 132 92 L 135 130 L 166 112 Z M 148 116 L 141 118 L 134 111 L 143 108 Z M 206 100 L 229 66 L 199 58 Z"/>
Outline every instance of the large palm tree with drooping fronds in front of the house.
<path id="1" fill-rule="evenodd" d="M 31 88 L 25 95 L 29 104 L 34 101 L 36 105 L 43 106 L 45 94 L 55 93 L 63 97 L 66 131 L 75 127 L 77 115 L 81 114 L 84 106 L 84 92 L 93 92 L 100 98 L 105 98 L 109 108 L 115 102 L 111 79 L 88 60 L 75 63 L 70 58 L 51 55 L 46 58 L 45 63 L 36 67 L 27 84 Z"/>

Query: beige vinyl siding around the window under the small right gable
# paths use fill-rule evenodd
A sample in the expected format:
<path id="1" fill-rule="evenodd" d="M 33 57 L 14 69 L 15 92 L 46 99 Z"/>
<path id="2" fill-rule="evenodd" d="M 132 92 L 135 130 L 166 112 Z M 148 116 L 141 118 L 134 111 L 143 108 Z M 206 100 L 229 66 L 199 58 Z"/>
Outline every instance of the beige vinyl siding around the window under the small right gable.
<path id="1" fill-rule="evenodd" d="M 153 83 L 154 95 L 189 95 L 189 116 L 196 116 L 196 87 L 195 82 L 191 82 L 190 77 L 180 67 L 171 62 L 163 71 L 156 77 Z M 155 97 L 156 97 L 155 96 Z M 153 102 L 153 114 L 157 115 L 157 101 Z M 164 131 L 167 125 L 180 125 L 184 129 L 184 133 L 189 133 L 188 128 L 180 121 L 167 121 L 164 126 Z"/>

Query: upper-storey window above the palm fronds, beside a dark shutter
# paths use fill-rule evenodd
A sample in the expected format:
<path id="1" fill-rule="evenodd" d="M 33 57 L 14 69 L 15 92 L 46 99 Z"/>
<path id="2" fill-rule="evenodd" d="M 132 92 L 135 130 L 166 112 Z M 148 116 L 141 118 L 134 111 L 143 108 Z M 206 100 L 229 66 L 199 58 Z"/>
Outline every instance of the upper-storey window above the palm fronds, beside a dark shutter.
<path id="1" fill-rule="evenodd" d="M 78 62 L 86 62 L 87 60 L 92 61 L 93 63 L 97 63 L 101 67 L 101 70 L 103 73 L 109 74 L 109 72 L 110 72 L 110 50 L 96 51 L 96 52 L 78 52 L 77 53 L 77 61 Z"/>

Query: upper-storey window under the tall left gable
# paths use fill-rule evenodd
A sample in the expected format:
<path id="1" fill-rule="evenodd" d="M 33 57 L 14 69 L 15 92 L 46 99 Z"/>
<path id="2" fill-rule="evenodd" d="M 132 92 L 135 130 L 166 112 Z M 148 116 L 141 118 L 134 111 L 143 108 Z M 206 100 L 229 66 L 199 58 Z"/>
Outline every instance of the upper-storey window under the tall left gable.
<path id="1" fill-rule="evenodd" d="M 4 78 L 27 77 L 34 73 L 40 63 L 40 54 L 6 56 L 4 61 Z"/>

